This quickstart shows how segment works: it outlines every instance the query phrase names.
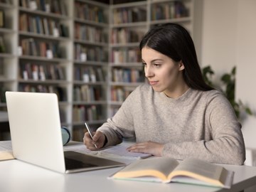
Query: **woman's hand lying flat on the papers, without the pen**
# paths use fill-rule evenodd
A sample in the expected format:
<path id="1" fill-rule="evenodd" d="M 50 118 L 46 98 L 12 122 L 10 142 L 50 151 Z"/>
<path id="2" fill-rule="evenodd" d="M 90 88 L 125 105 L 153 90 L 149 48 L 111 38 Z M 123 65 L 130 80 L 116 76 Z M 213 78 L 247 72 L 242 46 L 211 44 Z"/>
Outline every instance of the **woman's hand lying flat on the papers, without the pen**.
<path id="1" fill-rule="evenodd" d="M 129 146 L 127 151 L 134 153 L 152 154 L 154 156 L 162 156 L 163 149 L 164 144 L 159 144 L 156 142 L 144 142 Z"/>

